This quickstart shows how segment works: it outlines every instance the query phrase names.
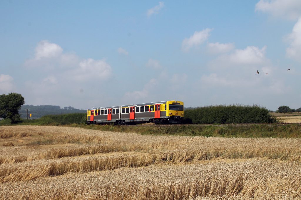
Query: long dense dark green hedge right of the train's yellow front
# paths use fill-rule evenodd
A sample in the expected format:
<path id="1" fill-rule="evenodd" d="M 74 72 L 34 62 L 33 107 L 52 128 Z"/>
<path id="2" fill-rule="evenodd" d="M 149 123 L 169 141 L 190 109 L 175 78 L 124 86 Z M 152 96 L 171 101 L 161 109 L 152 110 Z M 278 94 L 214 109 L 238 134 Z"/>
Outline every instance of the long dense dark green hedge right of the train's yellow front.
<path id="1" fill-rule="evenodd" d="M 186 108 L 184 122 L 188 124 L 273 123 L 269 110 L 253 105 L 218 105 Z"/>

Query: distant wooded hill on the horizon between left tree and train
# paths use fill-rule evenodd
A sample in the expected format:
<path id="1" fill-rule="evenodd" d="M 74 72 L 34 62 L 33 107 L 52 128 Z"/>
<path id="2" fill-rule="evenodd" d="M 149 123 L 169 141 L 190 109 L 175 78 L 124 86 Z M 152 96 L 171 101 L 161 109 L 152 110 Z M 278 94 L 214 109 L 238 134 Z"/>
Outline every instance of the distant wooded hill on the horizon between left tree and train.
<path id="1" fill-rule="evenodd" d="M 60 106 L 33 106 L 33 105 L 23 105 L 19 110 L 19 114 L 21 118 L 27 118 L 27 112 L 25 109 L 29 109 L 28 113 L 31 113 L 31 118 L 40 118 L 44 115 L 60 115 L 60 114 L 68 114 L 68 113 L 85 113 L 86 110 L 75 109 L 71 106 L 61 108 Z"/>

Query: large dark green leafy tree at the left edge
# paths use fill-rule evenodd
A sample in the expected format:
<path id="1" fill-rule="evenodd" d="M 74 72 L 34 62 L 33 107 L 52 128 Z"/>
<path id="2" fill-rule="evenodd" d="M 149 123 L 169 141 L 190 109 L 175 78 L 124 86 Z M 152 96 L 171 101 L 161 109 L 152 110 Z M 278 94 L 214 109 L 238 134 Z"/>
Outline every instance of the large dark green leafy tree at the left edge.
<path id="1" fill-rule="evenodd" d="M 0 117 L 11 119 L 12 124 L 17 123 L 20 121 L 19 109 L 24 103 L 24 97 L 21 94 L 0 95 Z"/>

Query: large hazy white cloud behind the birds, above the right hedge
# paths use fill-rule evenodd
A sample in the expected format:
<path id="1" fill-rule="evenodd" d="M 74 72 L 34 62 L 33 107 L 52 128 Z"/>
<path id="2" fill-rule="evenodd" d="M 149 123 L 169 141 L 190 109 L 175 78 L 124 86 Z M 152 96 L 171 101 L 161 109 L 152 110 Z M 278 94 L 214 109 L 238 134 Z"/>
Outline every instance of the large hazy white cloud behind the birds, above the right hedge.
<path id="1" fill-rule="evenodd" d="M 258 94 L 287 94 L 291 90 L 283 83 L 283 71 L 272 66 L 265 51 L 266 46 L 261 49 L 247 46 L 219 55 L 208 64 L 211 72 L 202 75 L 194 85 L 200 85 L 201 90 L 209 93 L 215 90 L 223 94 L 218 94 L 216 98 L 225 98 L 225 95 L 230 94 L 227 98 L 232 103 L 238 99 L 257 103 Z M 256 70 L 260 74 L 256 74 Z"/>

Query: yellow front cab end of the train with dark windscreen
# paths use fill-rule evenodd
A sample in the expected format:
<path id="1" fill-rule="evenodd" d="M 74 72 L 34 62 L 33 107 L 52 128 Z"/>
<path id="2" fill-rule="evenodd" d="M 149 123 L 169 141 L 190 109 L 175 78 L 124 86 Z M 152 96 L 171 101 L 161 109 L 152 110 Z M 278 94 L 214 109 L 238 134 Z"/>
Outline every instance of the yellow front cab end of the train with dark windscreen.
<path id="1" fill-rule="evenodd" d="M 166 116 L 169 123 L 182 123 L 184 103 L 182 101 L 166 101 Z"/>

